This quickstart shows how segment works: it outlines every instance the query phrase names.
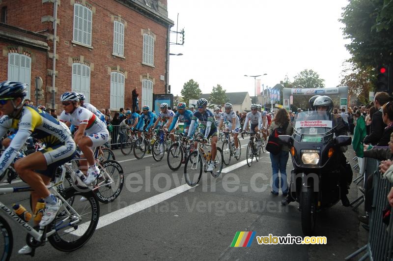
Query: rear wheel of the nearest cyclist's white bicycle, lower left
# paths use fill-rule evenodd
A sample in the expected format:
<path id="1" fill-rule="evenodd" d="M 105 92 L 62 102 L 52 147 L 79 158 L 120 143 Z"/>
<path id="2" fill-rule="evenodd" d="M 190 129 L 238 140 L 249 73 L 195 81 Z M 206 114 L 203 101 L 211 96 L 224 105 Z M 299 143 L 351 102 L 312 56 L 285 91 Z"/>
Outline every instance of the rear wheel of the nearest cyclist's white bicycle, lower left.
<path id="1" fill-rule="evenodd" d="M 93 235 L 100 217 L 100 203 L 91 190 L 86 191 L 86 188 L 82 187 L 68 188 L 63 197 L 66 202 L 70 198 L 75 200 L 72 208 L 63 203 L 55 220 L 48 226 L 48 232 L 56 230 L 48 237 L 48 241 L 59 251 L 71 252 L 81 248 Z M 81 201 L 82 197 L 87 200 Z M 80 215 L 81 220 L 69 225 L 78 220 L 72 209 Z"/>

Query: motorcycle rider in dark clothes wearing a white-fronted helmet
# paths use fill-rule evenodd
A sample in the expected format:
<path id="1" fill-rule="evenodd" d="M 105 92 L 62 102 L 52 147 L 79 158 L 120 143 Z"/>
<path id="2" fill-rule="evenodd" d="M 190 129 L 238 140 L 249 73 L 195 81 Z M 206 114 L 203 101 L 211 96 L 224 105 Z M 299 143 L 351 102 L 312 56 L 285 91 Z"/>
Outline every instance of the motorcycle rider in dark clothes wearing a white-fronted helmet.
<path id="1" fill-rule="evenodd" d="M 313 97 L 312 97 L 313 98 Z M 327 113 L 327 118 L 328 120 L 332 120 L 332 126 L 334 128 L 334 133 L 337 136 L 340 135 L 348 135 L 347 133 L 347 128 L 345 127 L 344 121 L 341 117 L 334 116 L 332 114 L 333 112 L 333 101 L 330 97 L 328 96 L 319 96 L 316 97 L 314 100 L 313 104 L 314 110 L 316 110 L 319 114 L 325 114 Z M 337 151 L 336 157 L 337 159 L 333 162 L 339 162 L 340 163 L 340 170 L 341 170 L 341 175 L 340 175 L 340 180 L 339 180 L 339 186 L 340 186 L 340 193 L 341 193 L 341 203 L 343 206 L 349 206 L 349 200 L 346 196 L 348 194 L 348 188 L 349 184 L 352 182 L 352 172 L 346 171 L 346 157 L 344 156 L 344 153 L 348 149 L 347 146 L 341 146 L 340 150 Z M 289 192 L 288 196 L 281 201 L 281 204 L 286 205 L 292 201 L 295 201 L 291 197 L 291 186 L 289 187 Z"/>

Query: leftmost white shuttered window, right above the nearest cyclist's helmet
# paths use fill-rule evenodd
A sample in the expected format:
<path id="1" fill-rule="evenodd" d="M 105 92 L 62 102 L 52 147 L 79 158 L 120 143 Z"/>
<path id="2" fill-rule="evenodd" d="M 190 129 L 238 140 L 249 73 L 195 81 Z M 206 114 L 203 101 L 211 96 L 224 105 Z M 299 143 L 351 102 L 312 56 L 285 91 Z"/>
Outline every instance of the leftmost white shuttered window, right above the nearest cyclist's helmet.
<path id="1" fill-rule="evenodd" d="M 18 53 L 8 54 L 8 81 L 16 81 L 28 84 L 28 95 L 30 99 L 31 83 L 31 58 Z"/>

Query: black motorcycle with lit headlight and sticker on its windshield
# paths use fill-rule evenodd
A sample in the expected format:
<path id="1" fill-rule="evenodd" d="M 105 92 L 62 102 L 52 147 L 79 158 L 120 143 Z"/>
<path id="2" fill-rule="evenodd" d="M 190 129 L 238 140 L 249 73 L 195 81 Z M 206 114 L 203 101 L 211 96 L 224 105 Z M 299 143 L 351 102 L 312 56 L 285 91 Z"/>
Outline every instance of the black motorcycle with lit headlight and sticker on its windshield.
<path id="1" fill-rule="evenodd" d="M 341 146 L 351 145 L 350 136 L 335 136 L 332 115 L 326 111 L 299 113 L 294 119 L 292 136 L 280 135 L 290 147 L 294 169 L 291 171 L 290 196 L 299 203 L 302 231 L 312 235 L 316 213 L 341 199 L 345 157 Z M 350 166 L 349 166 L 350 167 Z"/>

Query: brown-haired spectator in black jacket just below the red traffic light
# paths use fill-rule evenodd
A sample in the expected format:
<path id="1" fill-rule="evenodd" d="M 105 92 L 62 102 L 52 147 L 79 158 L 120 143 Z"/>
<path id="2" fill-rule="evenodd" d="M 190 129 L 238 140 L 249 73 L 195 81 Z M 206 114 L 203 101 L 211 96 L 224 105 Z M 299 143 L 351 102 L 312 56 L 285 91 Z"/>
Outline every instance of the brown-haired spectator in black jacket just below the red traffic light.
<path id="1" fill-rule="evenodd" d="M 381 107 L 389 101 L 389 95 L 386 92 L 377 92 L 374 96 L 374 107 L 378 111 L 372 115 L 370 134 L 365 136 L 364 143 L 376 145 L 382 137 L 382 133 L 386 127 L 382 121 Z M 363 107 L 362 107 L 363 108 Z"/>

